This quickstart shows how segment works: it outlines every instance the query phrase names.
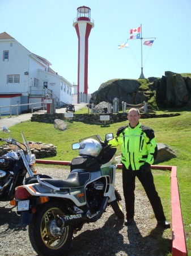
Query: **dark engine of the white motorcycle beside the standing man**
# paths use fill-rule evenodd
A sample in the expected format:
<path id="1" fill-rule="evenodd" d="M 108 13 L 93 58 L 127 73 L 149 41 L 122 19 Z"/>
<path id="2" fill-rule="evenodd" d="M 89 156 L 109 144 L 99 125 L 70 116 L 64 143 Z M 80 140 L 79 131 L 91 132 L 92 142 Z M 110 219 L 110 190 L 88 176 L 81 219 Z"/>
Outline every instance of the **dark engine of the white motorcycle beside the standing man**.
<path id="1" fill-rule="evenodd" d="M 104 184 L 100 181 L 95 181 L 87 187 L 86 199 L 91 213 L 96 213 L 100 208 L 103 200 Z"/>

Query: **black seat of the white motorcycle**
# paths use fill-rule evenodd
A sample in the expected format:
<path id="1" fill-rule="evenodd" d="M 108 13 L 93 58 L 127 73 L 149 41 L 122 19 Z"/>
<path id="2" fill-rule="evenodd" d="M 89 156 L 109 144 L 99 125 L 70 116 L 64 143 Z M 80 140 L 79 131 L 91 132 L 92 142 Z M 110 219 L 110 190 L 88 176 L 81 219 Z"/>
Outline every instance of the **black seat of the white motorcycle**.
<path id="1" fill-rule="evenodd" d="M 84 187 L 90 180 L 90 172 L 71 172 L 66 180 L 61 179 L 40 179 L 45 183 L 57 188 L 78 188 Z M 37 179 L 31 179 L 28 184 L 38 183 Z"/>

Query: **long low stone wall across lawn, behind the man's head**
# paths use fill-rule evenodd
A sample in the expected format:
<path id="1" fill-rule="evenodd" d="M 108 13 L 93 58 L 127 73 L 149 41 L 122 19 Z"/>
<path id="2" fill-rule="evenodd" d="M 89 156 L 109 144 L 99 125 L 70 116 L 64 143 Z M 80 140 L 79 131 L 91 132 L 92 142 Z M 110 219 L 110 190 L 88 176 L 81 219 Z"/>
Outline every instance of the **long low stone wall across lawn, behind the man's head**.
<path id="1" fill-rule="evenodd" d="M 104 124 L 104 121 L 100 121 L 100 115 L 109 115 L 109 121 L 105 121 L 105 124 L 115 123 L 126 121 L 126 114 L 124 113 L 107 113 L 107 114 L 73 114 L 73 117 L 65 118 L 64 113 L 54 113 L 54 114 L 33 114 L 31 117 L 32 122 L 43 122 L 43 123 L 54 123 L 54 119 L 61 119 L 63 121 L 76 121 L 84 123 L 95 123 L 95 124 Z M 180 115 L 179 113 L 175 114 L 155 114 L 155 113 L 146 113 L 141 114 L 141 118 L 162 118 L 162 117 L 175 117 Z"/>

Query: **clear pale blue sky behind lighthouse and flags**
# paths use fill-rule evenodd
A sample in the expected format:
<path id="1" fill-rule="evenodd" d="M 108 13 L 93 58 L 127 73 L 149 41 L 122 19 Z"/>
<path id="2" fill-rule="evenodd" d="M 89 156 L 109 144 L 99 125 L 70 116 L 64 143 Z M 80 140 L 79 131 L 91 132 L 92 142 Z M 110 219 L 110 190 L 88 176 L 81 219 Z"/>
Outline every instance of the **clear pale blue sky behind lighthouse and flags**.
<path id="1" fill-rule="evenodd" d="M 0 0 L 0 32 L 7 32 L 29 51 L 52 63 L 51 68 L 77 83 L 78 37 L 73 27 L 77 8 L 87 6 L 95 26 L 88 48 L 88 93 L 110 79 L 138 79 L 141 40 L 118 49 L 129 30 L 142 24 L 145 77 L 165 71 L 191 73 L 190 0 Z M 148 39 L 143 39 L 143 42 Z"/>

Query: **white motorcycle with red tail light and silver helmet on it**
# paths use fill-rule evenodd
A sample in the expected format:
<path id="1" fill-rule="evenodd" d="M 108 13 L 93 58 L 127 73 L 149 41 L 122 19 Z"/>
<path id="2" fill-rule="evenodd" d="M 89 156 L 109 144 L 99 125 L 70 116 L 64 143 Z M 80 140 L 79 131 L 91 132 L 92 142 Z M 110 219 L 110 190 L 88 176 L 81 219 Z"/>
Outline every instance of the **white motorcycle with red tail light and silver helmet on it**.
<path id="1" fill-rule="evenodd" d="M 111 138 L 113 134 L 107 134 L 105 140 Z M 106 146 L 99 135 L 80 139 L 72 148 L 79 156 L 71 161 L 66 180 L 37 176 L 16 188 L 20 225 L 29 225 L 29 239 L 38 255 L 64 255 L 73 233 L 99 220 L 109 205 L 124 220 L 115 187 L 116 148 Z"/>

